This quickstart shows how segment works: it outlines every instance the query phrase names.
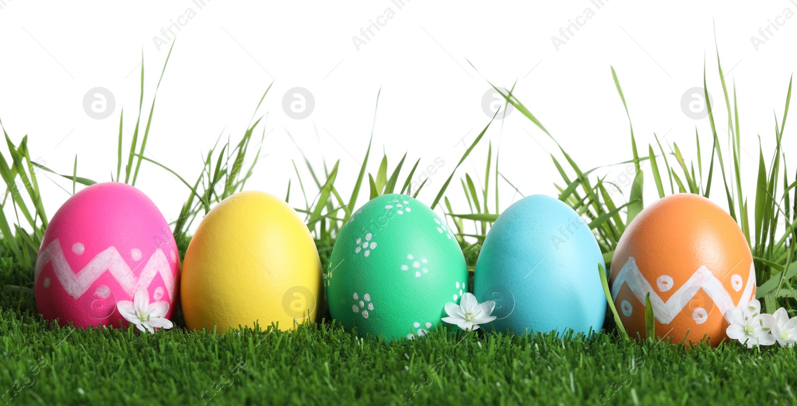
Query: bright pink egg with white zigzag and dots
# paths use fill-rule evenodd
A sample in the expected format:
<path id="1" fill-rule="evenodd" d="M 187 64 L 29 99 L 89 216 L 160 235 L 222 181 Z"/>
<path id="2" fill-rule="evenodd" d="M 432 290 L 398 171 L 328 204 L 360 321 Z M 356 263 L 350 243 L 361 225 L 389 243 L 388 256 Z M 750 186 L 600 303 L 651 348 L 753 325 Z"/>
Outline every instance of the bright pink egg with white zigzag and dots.
<path id="1" fill-rule="evenodd" d="M 116 303 L 147 289 L 150 303 L 179 292 L 177 244 L 139 189 L 98 183 L 69 197 L 50 221 L 36 260 L 36 305 L 61 326 L 128 326 Z"/>

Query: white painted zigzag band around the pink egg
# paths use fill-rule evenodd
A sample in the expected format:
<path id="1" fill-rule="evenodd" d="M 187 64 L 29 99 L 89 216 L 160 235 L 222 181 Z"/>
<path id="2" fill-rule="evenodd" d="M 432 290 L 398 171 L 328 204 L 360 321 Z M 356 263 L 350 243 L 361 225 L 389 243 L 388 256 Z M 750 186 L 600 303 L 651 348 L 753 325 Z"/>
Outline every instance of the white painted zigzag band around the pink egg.
<path id="1" fill-rule="evenodd" d="M 171 273 L 171 266 L 169 260 L 163 255 L 160 248 L 155 250 L 155 253 L 144 264 L 143 270 L 136 278 L 133 275 L 133 270 L 125 262 L 124 258 L 120 255 L 116 248 L 110 247 L 103 252 L 97 254 L 92 258 L 83 269 L 75 273 L 72 267 L 64 256 L 64 251 L 61 249 L 61 243 L 58 240 L 53 240 L 36 261 L 36 273 L 34 276 L 34 283 L 37 283 L 41 270 L 44 269 L 48 263 L 53 264 L 53 271 L 61 282 L 64 290 L 73 298 L 78 299 L 83 295 L 92 284 L 102 276 L 105 271 L 111 272 L 111 275 L 124 289 L 130 297 L 135 294 L 139 287 L 149 287 L 155 275 L 160 274 L 163 278 L 163 283 L 166 285 L 169 292 L 169 298 L 175 297 L 175 275 Z"/>

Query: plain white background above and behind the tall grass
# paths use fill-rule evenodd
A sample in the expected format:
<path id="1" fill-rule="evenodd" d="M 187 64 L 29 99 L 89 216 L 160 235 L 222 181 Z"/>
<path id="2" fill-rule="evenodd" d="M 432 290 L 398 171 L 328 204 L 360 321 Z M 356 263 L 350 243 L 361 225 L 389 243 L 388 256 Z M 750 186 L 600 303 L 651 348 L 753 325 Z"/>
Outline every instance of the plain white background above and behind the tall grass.
<path id="1" fill-rule="evenodd" d="M 202 9 L 190 0 L 0 0 L 0 119 L 15 143 L 28 135 L 32 158 L 49 168 L 71 174 L 77 154 L 80 176 L 110 180 L 116 172 L 120 111 L 124 107 L 126 143 L 138 114 L 142 52 L 146 115 L 172 43 L 171 36 L 164 38 L 161 31 L 170 21 L 182 21 L 159 90 L 147 156 L 191 181 L 202 168 L 202 155 L 220 134 L 234 140 L 243 134 L 272 81 L 273 88 L 258 112 L 268 113 L 259 128 L 268 134 L 264 157 L 247 189 L 284 196 L 292 178 L 291 203 L 296 207 L 304 206 L 304 201 L 291 159 L 297 160 L 305 186 L 311 180 L 287 132 L 316 166 L 322 156 L 330 167 L 340 159 L 336 186 L 348 196 L 365 154 L 380 88 L 369 171 L 375 174 L 383 150 L 391 168 L 405 152 L 409 163 L 421 159 L 419 168 L 440 157 L 445 165 L 430 177 L 429 187 L 420 196 L 427 203 L 454 169 L 465 144 L 473 142 L 489 122 L 481 103 L 489 89 L 486 80 L 507 88 L 517 81 L 516 96 L 583 169 L 622 162 L 632 158 L 630 133 L 610 66 L 617 70 L 629 103 L 640 153 L 647 154 L 647 144 L 654 142 L 656 133 L 666 142 L 677 142 L 685 157 L 693 158 L 697 127 L 707 170 L 708 119 L 685 115 L 681 96 L 689 88 L 702 86 L 705 61 L 709 92 L 718 110 L 717 131 L 720 139 L 726 139 L 713 33 L 716 24 L 726 80 L 729 86 L 736 82 L 744 147 L 741 159 L 749 192 L 758 165 L 756 135 L 761 136 L 769 157 L 773 112 L 782 117 L 789 77 L 797 68 L 797 17 L 791 17 L 797 12 L 797 2 L 788 0 L 755 5 L 603 0 L 601 8 L 597 0 L 404 1 L 399 10 L 390 0 L 344 4 L 206 0 Z M 193 11 L 188 12 L 189 8 Z M 387 8 L 395 15 L 380 18 Z M 587 8 L 594 15 L 579 17 Z M 192 18 L 181 17 L 186 13 Z M 783 17 L 784 13 L 791 18 Z M 377 20 L 384 26 L 357 49 L 352 37 L 363 39 L 361 28 Z M 583 26 L 564 40 L 560 28 L 569 21 Z M 777 31 L 771 29 L 774 35 L 764 40 L 759 30 L 771 21 L 782 25 Z M 552 41 L 555 36 L 565 41 L 559 49 Z M 754 36 L 764 42 L 757 49 L 752 45 Z M 158 49 L 155 37 L 167 45 Z M 92 119 L 84 111 L 84 95 L 96 87 L 107 88 L 115 96 L 116 107 L 108 119 Z M 294 87 L 306 88 L 314 96 L 315 108 L 307 119 L 292 119 L 283 110 L 283 96 Z M 787 152 L 794 146 L 794 127 L 787 125 Z M 454 211 L 468 211 L 459 178 L 468 172 L 475 175 L 474 182 L 484 181 L 490 141 L 493 150 L 500 144 L 501 172 L 522 193 L 556 193 L 553 181 L 559 176 L 549 155 L 560 156 L 556 145 L 512 111 L 503 122 L 493 123 L 472 158 L 457 171 L 448 193 Z M 790 171 L 797 167 L 795 163 L 788 161 Z M 615 167 L 607 179 L 623 183 L 619 174 L 625 169 Z M 47 174 L 40 172 L 40 176 Z M 41 179 L 50 217 L 69 197 L 53 182 Z M 70 183 L 61 185 L 71 189 Z M 650 177 L 646 183 L 646 203 L 650 203 L 655 186 Z M 185 186 L 147 162 L 136 186 L 169 220 L 178 215 L 188 196 Z M 725 205 L 721 182 L 714 187 L 718 189 L 713 199 Z M 316 192 L 308 189 L 310 194 Z M 502 209 L 520 198 L 503 181 L 501 197 Z M 367 183 L 361 195 L 365 198 Z"/>

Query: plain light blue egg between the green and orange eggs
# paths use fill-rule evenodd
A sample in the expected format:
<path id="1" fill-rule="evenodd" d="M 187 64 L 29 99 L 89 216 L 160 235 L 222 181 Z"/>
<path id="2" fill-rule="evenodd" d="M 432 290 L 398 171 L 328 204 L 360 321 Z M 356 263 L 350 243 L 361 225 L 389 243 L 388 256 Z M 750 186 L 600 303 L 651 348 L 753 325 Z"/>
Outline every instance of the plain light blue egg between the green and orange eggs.
<path id="1" fill-rule="evenodd" d="M 492 326 L 500 332 L 597 332 L 607 307 L 598 264 L 606 268 L 587 223 L 562 201 L 536 194 L 509 206 L 490 228 L 473 295 L 496 301 Z"/>

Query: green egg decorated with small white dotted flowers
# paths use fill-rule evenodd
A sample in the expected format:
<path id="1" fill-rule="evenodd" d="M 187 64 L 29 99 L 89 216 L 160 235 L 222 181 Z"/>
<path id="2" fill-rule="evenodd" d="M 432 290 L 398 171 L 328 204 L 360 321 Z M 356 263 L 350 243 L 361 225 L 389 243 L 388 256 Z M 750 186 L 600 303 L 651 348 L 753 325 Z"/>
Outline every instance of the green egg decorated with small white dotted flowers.
<path id="1" fill-rule="evenodd" d="M 468 291 L 465 257 L 446 222 L 403 194 L 376 197 L 352 215 L 324 280 L 333 319 L 388 340 L 443 326 L 446 303 Z"/>

